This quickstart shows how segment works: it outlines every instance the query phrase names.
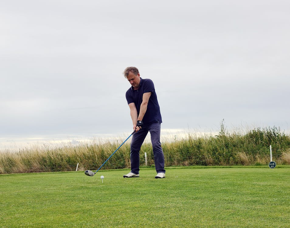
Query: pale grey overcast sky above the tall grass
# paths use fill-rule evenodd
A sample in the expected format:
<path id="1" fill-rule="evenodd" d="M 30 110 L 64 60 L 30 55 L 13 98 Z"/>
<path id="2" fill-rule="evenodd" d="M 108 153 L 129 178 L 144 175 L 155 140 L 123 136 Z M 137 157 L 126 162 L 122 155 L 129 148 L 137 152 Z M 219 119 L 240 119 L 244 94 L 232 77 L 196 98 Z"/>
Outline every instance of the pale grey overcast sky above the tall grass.
<path id="1" fill-rule="evenodd" d="M 153 80 L 162 133 L 289 131 L 290 2 L 0 2 L 0 148 L 132 131 L 123 71 Z M 20 144 L 19 144 L 20 143 Z"/>

